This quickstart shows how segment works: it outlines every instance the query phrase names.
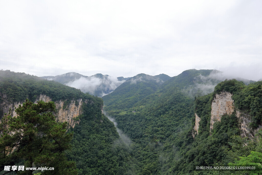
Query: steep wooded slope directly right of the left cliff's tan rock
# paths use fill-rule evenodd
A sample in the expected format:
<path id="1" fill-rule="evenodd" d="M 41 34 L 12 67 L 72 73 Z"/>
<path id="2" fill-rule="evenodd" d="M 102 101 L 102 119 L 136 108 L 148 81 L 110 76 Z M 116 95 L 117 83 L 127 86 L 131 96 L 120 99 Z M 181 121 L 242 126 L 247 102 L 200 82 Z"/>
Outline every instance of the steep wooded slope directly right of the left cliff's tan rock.
<path id="1" fill-rule="evenodd" d="M 83 105 L 80 123 L 74 132 L 72 151 L 67 153 L 79 168 L 79 174 L 134 174 L 131 150 L 119 138 L 114 124 L 97 108 L 101 102 Z"/>

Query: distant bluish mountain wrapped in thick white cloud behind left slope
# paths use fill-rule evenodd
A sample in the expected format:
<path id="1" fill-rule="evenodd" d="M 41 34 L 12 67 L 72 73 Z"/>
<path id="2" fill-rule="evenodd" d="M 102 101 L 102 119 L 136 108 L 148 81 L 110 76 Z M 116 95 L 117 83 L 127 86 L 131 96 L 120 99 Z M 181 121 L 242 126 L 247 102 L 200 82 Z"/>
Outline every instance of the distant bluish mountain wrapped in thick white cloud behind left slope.
<path id="1" fill-rule="evenodd" d="M 88 92 L 91 95 L 99 97 L 113 92 L 114 89 L 128 79 L 124 77 L 111 77 L 109 75 L 102 75 L 101 73 L 88 77 L 75 72 L 69 72 L 57 76 L 44 76 L 40 78 L 53 80 L 80 89 L 84 93 Z"/>

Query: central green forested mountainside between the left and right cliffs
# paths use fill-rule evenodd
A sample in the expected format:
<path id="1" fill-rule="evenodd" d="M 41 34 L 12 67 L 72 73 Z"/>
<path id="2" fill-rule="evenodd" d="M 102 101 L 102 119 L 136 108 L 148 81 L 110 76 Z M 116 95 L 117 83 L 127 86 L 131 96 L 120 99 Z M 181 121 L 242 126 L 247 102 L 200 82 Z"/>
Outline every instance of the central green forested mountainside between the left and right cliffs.
<path id="1" fill-rule="evenodd" d="M 126 81 L 113 93 L 103 97 L 107 105 L 104 109 L 134 141 L 134 156 L 143 165 L 138 173 L 174 173 L 174 166 L 183 158 L 181 148 L 193 141 L 194 98 L 187 96 L 183 90 L 194 85 L 195 77 L 202 73 L 207 76 L 211 71 L 184 71 L 163 84 L 150 80 L 137 84 Z M 139 76 L 142 75 L 134 78 L 138 79 Z M 150 87 L 151 91 L 144 86 Z M 132 104 L 129 108 L 119 107 L 125 104 L 126 97 L 137 100 L 128 103 Z"/>

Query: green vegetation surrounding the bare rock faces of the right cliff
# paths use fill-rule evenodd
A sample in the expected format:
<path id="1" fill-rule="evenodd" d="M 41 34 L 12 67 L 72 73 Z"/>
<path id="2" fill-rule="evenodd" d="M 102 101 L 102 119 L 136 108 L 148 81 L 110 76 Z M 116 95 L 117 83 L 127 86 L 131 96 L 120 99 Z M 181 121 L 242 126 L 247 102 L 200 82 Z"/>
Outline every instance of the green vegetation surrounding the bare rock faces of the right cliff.
<path id="1" fill-rule="evenodd" d="M 262 163 L 262 159 L 259 157 L 261 154 L 261 131 L 258 131 L 253 139 L 241 138 L 239 119 L 236 117 L 236 113 L 222 116 L 221 122 L 214 124 L 214 129 L 211 130 L 212 135 L 209 134 L 211 103 L 215 94 L 220 94 L 220 92 L 233 94 L 235 110 L 251 117 L 249 128 L 256 129 L 261 125 L 261 84 L 260 81 L 245 85 L 236 79 L 226 79 L 215 87 L 212 94 L 195 99 L 195 112 L 201 116 L 199 134 L 186 154 L 187 157 L 192 157 L 191 162 L 194 162 L 194 166 L 256 166 L 254 171 L 224 171 L 220 174 L 257 174 L 261 171 L 261 167 L 258 166 L 259 163 Z"/>

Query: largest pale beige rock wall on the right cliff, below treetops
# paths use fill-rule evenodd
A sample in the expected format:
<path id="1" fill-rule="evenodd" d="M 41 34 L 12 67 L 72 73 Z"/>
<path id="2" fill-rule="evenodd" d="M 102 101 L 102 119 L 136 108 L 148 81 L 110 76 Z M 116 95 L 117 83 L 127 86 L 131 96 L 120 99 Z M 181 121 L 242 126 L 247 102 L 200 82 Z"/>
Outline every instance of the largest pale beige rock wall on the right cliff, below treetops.
<path id="1" fill-rule="evenodd" d="M 211 105 L 210 131 L 216 121 L 221 121 L 224 114 L 232 114 L 234 112 L 234 101 L 230 92 L 221 92 L 216 94 Z"/>

